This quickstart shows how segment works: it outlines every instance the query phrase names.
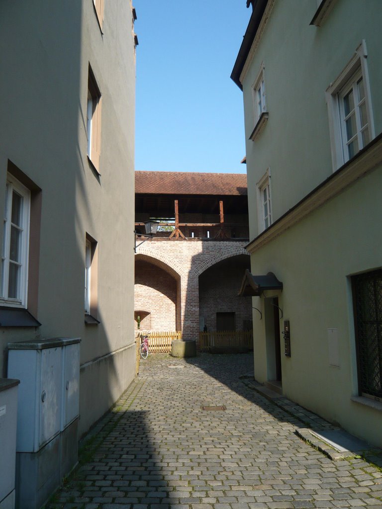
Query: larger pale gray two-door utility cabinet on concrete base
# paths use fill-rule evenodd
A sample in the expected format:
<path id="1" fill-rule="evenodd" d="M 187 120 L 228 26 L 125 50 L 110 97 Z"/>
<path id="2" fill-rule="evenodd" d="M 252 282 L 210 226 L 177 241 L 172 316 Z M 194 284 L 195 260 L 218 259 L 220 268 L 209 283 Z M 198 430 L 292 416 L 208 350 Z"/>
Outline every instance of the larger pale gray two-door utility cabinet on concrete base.
<path id="1" fill-rule="evenodd" d="M 78 460 L 79 338 L 8 344 L 20 380 L 16 507 L 39 509 Z"/>

